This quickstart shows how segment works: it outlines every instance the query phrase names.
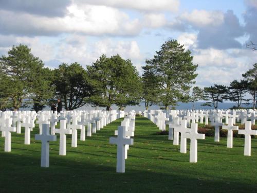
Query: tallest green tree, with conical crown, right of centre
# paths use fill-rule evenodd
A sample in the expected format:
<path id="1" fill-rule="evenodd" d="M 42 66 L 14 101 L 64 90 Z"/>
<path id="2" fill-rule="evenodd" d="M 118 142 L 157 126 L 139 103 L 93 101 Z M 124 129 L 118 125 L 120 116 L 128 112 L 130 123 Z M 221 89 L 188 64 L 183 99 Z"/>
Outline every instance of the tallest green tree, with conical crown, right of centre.
<path id="1" fill-rule="evenodd" d="M 159 99 L 165 106 L 176 106 L 178 101 L 189 101 L 190 84 L 195 83 L 194 79 L 198 65 L 193 64 L 191 51 L 185 51 L 183 45 L 176 40 L 162 44 L 161 49 L 151 60 L 146 60 L 144 71 L 150 71 L 158 80 Z"/>

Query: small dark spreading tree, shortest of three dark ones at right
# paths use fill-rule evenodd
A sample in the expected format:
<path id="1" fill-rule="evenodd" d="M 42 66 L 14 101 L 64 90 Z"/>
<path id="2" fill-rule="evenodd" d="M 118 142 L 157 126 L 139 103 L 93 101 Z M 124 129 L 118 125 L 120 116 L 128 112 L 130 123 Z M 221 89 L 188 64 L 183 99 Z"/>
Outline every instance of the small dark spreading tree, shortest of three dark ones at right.
<path id="1" fill-rule="evenodd" d="M 227 93 L 229 92 L 227 86 L 217 85 L 205 87 L 204 88 L 204 100 L 209 100 L 208 102 L 202 104 L 202 106 L 218 108 L 218 102 L 223 102 L 227 98 Z"/>

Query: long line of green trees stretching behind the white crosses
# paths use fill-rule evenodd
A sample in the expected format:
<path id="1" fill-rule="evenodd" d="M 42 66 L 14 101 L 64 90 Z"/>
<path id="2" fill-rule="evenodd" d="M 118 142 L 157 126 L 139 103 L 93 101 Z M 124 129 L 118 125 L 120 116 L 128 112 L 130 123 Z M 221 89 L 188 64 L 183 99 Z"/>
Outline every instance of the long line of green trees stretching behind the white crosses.
<path id="1" fill-rule="evenodd" d="M 230 100 L 240 108 L 243 102 L 249 102 L 244 98 L 247 92 L 253 97 L 253 107 L 257 106 L 257 63 L 243 75 L 244 80 L 234 80 L 229 87 L 195 86 L 191 92 L 198 65 L 193 63 L 191 51 L 176 40 L 162 44 L 145 63 L 141 77 L 131 60 L 119 55 L 102 55 L 86 68 L 75 62 L 50 69 L 31 54 L 28 46 L 13 46 L 0 58 L 0 110 L 32 106 L 40 111 L 57 98 L 61 98 L 65 110 L 85 104 L 106 110 L 116 104 L 123 110 L 139 102 L 144 102 L 146 109 L 158 104 L 168 110 L 178 102 L 192 102 L 194 108 L 198 100 L 206 100 L 204 105 L 215 109 L 218 102 Z"/>

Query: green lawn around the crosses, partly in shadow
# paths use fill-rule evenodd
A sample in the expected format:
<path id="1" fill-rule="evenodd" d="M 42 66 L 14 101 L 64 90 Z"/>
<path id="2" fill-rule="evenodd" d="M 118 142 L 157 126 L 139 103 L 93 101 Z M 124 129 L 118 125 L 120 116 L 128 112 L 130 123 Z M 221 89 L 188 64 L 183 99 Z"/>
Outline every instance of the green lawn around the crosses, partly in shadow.
<path id="1" fill-rule="evenodd" d="M 0 137 L 0 192 L 257 192 L 257 139 L 252 156 L 244 156 L 244 138 L 198 141 L 198 163 L 179 153 L 167 135 L 155 135 L 157 127 L 144 117 L 136 118 L 134 145 L 130 146 L 126 172 L 116 173 L 115 145 L 109 137 L 122 119 L 114 121 L 78 148 L 67 139 L 67 155 L 59 143 L 50 143 L 50 167 L 41 168 L 41 142 L 24 145 L 24 134 L 12 135 L 12 151 L 4 152 Z M 24 130 L 22 130 L 24 132 Z"/>

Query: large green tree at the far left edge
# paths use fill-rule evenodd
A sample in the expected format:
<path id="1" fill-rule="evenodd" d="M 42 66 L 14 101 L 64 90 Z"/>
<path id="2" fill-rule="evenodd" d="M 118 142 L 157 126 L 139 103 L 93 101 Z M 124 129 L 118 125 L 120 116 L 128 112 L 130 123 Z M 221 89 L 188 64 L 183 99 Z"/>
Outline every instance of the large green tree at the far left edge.
<path id="1" fill-rule="evenodd" d="M 14 110 L 22 107 L 24 99 L 30 99 L 33 92 L 33 82 L 36 72 L 43 68 L 43 62 L 31 54 L 31 49 L 20 44 L 8 51 L 8 56 L 0 58 L 0 71 L 6 76 L 2 77 L 1 87 L 11 102 Z"/>

